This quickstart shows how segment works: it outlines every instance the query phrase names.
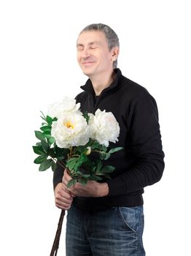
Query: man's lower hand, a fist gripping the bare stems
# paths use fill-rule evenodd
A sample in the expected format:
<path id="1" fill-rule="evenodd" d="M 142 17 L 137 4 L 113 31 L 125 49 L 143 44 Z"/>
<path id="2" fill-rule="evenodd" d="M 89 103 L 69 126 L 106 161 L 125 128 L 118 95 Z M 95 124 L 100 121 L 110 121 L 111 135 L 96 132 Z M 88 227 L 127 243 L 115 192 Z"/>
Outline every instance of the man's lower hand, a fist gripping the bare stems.
<path id="1" fill-rule="evenodd" d="M 62 210 L 69 210 L 73 196 L 67 191 L 63 183 L 58 183 L 55 187 L 55 206 Z"/>

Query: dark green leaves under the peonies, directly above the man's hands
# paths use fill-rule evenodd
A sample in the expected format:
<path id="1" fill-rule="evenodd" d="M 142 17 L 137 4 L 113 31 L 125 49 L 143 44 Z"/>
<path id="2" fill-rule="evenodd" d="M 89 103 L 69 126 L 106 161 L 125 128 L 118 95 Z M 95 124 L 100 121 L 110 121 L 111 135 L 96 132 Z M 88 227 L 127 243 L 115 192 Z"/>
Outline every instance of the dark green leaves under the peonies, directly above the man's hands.
<path id="1" fill-rule="evenodd" d="M 106 146 L 102 146 L 96 140 L 89 140 L 85 146 L 72 148 L 71 158 L 66 160 L 66 167 L 69 170 L 71 181 L 68 187 L 74 186 L 77 182 L 87 184 L 87 181 L 101 181 L 103 178 L 109 179 L 109 174 L 115 169 L 112 165 L 104 165 L 103 160 L 109 159 L 112 153 L 120 151 L 122 148 L 112 148 L 109 151 Z M 97 158 L 93 161 L 90 154 L 97 153 Z"/>

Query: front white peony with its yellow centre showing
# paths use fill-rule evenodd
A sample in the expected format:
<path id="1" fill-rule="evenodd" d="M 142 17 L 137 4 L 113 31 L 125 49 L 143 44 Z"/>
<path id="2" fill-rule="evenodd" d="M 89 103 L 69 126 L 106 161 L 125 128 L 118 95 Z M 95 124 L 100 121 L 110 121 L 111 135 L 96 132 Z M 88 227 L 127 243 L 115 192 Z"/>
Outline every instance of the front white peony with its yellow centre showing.
<path id="1" fill-rule="evenodd" d="M 90 129 L 81 112 L 65 112 L 52 123 L 51 135 L 59 148 L 84 146 L 90 138 Z"/>

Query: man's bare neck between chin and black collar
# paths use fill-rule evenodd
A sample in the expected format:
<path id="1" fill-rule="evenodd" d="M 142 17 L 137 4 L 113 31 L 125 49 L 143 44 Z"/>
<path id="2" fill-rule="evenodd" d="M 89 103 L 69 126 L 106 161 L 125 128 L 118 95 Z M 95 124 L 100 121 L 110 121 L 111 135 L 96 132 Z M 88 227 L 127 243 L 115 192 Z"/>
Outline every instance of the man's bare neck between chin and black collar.
<path id="1" fill-rule="evenodd" d="M 112 81 L 114 80 L 114 71 L 112 69 L 111 72 L 104 73 L 103 75 L 99 76 L 94 76 L 94 77 L 89 77 L 92 84 L 93 84 L 93 89 L 95 91 L 95 95 L 100 95 L 101 91 L 106 89 L 107 87 L 110 86 Z"/>

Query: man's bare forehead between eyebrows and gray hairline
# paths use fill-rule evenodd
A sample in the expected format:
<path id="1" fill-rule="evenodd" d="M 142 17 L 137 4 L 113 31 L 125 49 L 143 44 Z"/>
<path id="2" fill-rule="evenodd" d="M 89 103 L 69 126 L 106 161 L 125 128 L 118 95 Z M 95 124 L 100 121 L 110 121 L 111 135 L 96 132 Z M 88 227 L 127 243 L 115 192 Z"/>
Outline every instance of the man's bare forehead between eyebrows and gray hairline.
<path id="1" fill-rule="evenodd" d="M 92 42 L 101 45 L 107 44 L 104 32 L 95 30 L 83 31 L 82 34 L 79 34 L 79 37 L 77 39 L 77 45 L 85 45 L 90 44 Z"/>

